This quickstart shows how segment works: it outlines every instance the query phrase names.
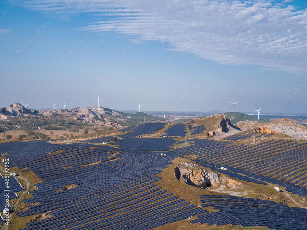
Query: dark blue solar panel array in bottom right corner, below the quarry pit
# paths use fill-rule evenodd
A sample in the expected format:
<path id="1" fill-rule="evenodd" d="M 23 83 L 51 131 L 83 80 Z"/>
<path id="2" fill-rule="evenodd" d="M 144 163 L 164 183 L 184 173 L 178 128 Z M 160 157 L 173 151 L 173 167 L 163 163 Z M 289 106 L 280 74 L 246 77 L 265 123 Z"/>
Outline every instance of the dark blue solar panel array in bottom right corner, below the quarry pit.
<path id="1" fill-rule="evenodd" d="M 219 211 L 198 215 L 198 219 L 190 221 L 192 224 L 264 226 L 276 230 L 307 229 L 307 209 L 244 197 L 222 195 L 199 197 L 204 198 L 200 200 L 203 203 L 202 207 L 212 206 Z"/>

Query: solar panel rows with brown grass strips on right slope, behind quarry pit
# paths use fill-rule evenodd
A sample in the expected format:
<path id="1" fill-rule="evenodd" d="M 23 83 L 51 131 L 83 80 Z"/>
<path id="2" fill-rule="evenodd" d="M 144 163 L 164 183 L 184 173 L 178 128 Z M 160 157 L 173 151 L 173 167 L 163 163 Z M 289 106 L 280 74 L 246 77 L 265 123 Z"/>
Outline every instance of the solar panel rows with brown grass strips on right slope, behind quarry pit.
<path id="1" fill-rule="evenodd" d="M 244 181 L 284 186 L 288 192 L 307 196 L 306 144 L 268 140 L 254 146 L 237 146 L 232 145 L 232 142 L 201 139 L 171 154 L 198 154 L 196 162 L 205 167 Z M 221 170 L 221 167 L 227 168 L 227 171 Z"/>

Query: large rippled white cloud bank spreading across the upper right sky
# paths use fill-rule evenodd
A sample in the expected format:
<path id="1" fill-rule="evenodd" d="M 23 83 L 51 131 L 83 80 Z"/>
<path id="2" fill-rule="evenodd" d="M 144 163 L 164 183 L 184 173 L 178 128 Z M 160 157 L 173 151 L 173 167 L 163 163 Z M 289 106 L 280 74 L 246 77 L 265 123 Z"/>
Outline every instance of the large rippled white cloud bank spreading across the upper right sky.
<path id="1" fill-rule="evenodd" d="M 285 2 L 36 0 L 26 5 L 58 14 L 93 13 L 101 20 L 82 29 L 168 42 L 170 50 L 180 47 L 221 64 L 262 66 L 276 56 L 271 68 L 306 72 L 307 11 Z"/>

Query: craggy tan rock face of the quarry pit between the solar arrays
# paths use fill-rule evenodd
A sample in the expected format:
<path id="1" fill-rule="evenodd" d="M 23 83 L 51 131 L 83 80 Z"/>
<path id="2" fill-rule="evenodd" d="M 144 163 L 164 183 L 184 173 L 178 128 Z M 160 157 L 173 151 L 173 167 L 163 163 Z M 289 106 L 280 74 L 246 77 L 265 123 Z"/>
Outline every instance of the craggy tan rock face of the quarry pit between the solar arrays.
<path id="1" fill-rule="evenodd" d="M 214 187 L 218 186 L 220 175 L 212 170 L 201 169 L 199 167 L 192 163 L 181 163 L 175 168 L 175 176 L 179 181 L 182 177 L 186 184 L 202 189 L 208 189 L 211 185 Z"/>

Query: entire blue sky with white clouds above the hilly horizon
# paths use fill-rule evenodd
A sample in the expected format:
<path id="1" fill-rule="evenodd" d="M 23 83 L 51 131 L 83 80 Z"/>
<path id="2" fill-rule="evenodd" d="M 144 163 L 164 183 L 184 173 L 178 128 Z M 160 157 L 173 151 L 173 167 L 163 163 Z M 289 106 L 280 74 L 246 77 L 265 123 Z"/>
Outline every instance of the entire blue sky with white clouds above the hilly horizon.
<path id="1" fill-rule="evenodd" d="M 236 111 L 307 113 L 305 1 L 36 0 L 0 8 L 0 107 L 90 107 L 99 94 L 100 106 L 117 110 L 140 103 L 145 111 L 232 111 L 230 101 L 239 101 Z"/>

